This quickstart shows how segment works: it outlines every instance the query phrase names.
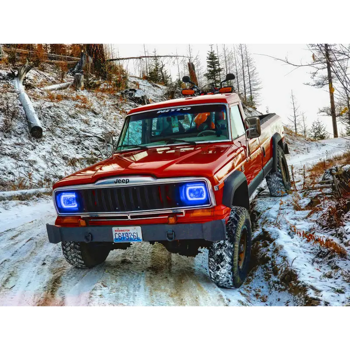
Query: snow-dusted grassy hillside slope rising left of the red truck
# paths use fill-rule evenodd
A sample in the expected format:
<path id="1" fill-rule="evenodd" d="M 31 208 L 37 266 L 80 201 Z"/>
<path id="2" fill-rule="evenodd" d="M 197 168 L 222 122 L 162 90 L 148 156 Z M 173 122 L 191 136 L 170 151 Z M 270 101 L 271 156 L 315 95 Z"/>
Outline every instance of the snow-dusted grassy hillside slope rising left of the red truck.
<path id="1" fill-rule="evenodd" d="M 32 69 L 29 86 L 58 83 L 58 73 Z M 0 190 L 51 186 L 59 178 L 108 156 L 103 134 L 118 136 L 127 111 L 136 103 L 119 94 L 66 89 L 27 88 L 43 127 L 40 139 L 31 137 L 9 69 L 0 66 Z M 165 86 L 130 77 L 152 101 L 164 99 Z"/>

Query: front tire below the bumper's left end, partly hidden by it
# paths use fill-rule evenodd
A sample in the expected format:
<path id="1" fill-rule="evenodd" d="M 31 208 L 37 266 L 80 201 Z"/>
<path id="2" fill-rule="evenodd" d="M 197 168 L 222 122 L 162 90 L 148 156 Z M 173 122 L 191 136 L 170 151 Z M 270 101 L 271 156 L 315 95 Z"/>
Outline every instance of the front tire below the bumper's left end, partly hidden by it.
<path id="1" fill-rule="evenodd" d="M 111 250 L 111 244 L 99 242 L 62 242 L 62 253 L 73 266 L 91 268 L 103 262 Z"/>

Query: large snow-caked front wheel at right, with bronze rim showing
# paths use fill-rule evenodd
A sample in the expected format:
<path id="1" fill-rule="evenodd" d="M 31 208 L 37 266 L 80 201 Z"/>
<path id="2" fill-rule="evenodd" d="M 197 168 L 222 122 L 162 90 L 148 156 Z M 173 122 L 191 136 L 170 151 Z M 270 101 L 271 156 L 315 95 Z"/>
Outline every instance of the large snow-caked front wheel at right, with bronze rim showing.
<path id="1" fill-rule="evenodd" d="M 247 209 L 232 206 L 226 224 L 226 239 L 209 247 L 211 280 L 219 287 L 238 288 L 248 273 L 251 254 L 251 222 Z"/>

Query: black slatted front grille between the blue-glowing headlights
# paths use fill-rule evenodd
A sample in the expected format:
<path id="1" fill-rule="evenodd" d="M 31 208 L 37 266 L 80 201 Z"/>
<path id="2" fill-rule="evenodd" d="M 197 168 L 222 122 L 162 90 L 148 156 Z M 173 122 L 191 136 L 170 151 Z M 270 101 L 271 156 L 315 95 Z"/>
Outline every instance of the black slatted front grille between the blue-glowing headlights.
<path id="1" fill-rule="evenodd" d="M 125 212 L 183 206 L 181 183 L 79 189 L 83 212 Z"/>

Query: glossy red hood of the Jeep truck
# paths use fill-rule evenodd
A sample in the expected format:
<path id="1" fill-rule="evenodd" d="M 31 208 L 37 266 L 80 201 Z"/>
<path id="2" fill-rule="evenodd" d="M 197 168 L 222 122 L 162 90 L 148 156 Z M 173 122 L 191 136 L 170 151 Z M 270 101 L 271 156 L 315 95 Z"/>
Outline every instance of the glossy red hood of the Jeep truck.
<path id="1" fill-rule="evenodd" d="M 239 148 L 232 143 L 169 145 L 147 150 L 122 151 L 64 177 L 56 182 L 53 188 L 94 183 L 104 177 L 121 175 L 210 178 L 225 165 L 228 155 L 234 152 L 239 152 Z"/>

